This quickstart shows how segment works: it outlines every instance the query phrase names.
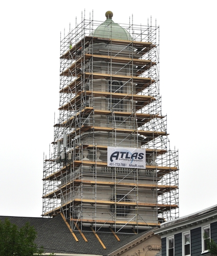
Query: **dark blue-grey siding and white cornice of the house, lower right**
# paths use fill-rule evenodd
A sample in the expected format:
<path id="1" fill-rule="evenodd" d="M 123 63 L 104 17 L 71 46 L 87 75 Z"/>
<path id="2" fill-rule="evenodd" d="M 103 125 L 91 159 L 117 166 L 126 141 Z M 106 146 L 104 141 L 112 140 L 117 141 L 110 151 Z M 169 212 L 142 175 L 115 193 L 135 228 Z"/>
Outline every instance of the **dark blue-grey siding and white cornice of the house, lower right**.
<path id="1" fill-rule="evenodd" d="M 204 248 L 204 229 L 209 228 L 210 238 L 217 244 L 217 204 L 206 208 L 202 211 L 195 212 L 182 218 L 177 218 L 173 221 L 161 223 L 160 229 L 156 230 L 155 234 L 161 236 L 162 241 L 162 256 L 168 256 L 168 241 L 173 238 L 174 256 L 183 256 L 185 248 L 187 253 L 190 245 L 191 256 L 208 256 L 210 253 Z M 208 230 L 207 230 L 208 231 Z M 184 245 L 185 235 L 186 246 Z M 187 245 L 188 244 L 188 245 Z"/>

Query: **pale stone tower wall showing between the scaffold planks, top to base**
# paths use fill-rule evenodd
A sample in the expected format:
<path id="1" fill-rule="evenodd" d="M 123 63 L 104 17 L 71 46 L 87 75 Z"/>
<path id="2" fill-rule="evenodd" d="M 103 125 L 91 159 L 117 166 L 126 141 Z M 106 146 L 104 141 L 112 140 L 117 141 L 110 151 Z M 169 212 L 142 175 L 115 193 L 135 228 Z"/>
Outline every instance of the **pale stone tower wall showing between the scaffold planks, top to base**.
<path id="1" fill-rule="evenodd" d="M 122 56 L 127 53 L 133 53 L 133 49 L 127 49 L 125 46 L 107 46 L 106 44 L 93 44 L 90 46 L 93 48 L 93 52 L 95 54 L 110 54 L 111 56 Z M 108 49 L 109 48 L 109 49 Z M 89 51 L 86 49 L 86 51 Z M 125 56 L 126 57 L 126 56 Z M 126 65 L 125 63 L 116 63 L 116 62 L 108 62 L 108 61 L 87 61 L 83 67 L 81 68 L 82 72 L 95 72 L 99 74 L 110 74 L 110 75 L 122 75 L 122 76 L 131 76 L 132 73 L 136 72 L 135 67 L 133 65 Z M 114 82 L 114 83 L 113 83 Z M 132 82 L 126 81 L 116 81 L 114 80 L 105 80 L 105 79 L 90 79 L 88 85 L 85 86 L 86 91 L 92 92 L 110 92 L 110 93 L 127 93 L 127 94 L 136 94 L 136 87 L 133 86 Z M 126 100 L 126 99 L 113 99 L 111 96 L 108 98 L 104 98 L 102 96 L 91 96 L 87 97 L 87 100 L 84 101 L 85 106 L 92 107 L 95 110 L 104 110 L 104 111 L 119 111 L 119 112 L 130 112 L 134 113 L 136 108 L 135 100 Z M 84 105 L 80 105 L 81 109 L 84 108 Z M 77 127 L 81 125 L 81 123 L 76 124 Z M 105 115 L 93 115 L 88 120 L 85 120 L 84 125 L 97 126 L 97 127 L 118 127 L 119 129 L 138 129 L 136 117 L 134 118 L 125 118 L 125 117 L 116 117 L 116 119 L 112 119 L 111 117 L 107 117 Z M 75 128 L 77 128 L 75 127 Z M 128 137 L 126 139 L 126 137 Z M 127 147 L 141 147 L 141 142 L 139 139 L 133 136 L 126 136 L 125 134 L 116 134 L 115 140 L 119 146 L 127 146 Z M 114 145 L 114 139 L 111 139 L 111 135 L 108 132 L 93 132 L 88 134 L 80 135 L 80 142 L 83 144 L 100 144 L 109 146 L 110 143 Z M 85 150 L 83 152 L 85 154 L 80 154 L 80 160 L 95 160 L 96 155 L 93 151 Z M 102 155 L 100 151 L 99 153 L 99 161 L 106 161 L 106 154 Z M 84 174 L 85 173 L 85 174 Z M 92 173 L 92 175 L 90 175 Z M 93 174 L 96 175 L 93 177 Z M 122 177 L 116 174 L 116 180 L 120 179 L 125 183 L 137 182 L 137 175 L 128 175 L 126 169 L 123 168 L 121 170 Z M 139 183 L 157 183 L 157 180 L 150 179 L 150 176 L 156 176 L 156 172 L 152 172 L 152 175 L 147 175 L 145 172 L 139 175 L 138 180 Z M 120 174 L 121 175 L 121 174 Z M 118 177 L 117 177 L 118 176 Z M 107 177 L 103 174 L 102 168 L 96 170 L 91 170 L 89 166 L 82 167 L 82 177 L 86 180 L 103 180 L 103 181 L 111 181 L 113 178 L 112 173 L 108 173 Z M 113 200 L 115 195 L 127 195 L 127 199 L 130 202 L 139 202 L 139 203 L 153 203 L 157 204 L 157 193 L 153 192 L 150 189 L 132 189 L 131 187 L 121 187 L 116 186 L 114 189 L 110 186 L 100 187 L 99 185 L 92 187 L 91 185 L 82 185 L 74 189 L 73 191 L 69 190 L 66 195 L 62 198 L 62 204 L 68 203 L 75 199 L 84 198 L 85 200 L 101 200 L 104 202 L 110 202 Z M 125 197 L 124 197 L 125 200 Z M 124 201 L 123 200 L 123 201 Z M 118 201 L 118 200 L 117 200 Z M 104 203 L 105 204 L 105 203 Z M 115 204 L 115 203 L 114 203 Z M 128 214 L 125 214 L 129 209 Z M 123 211 L 123 214 L 119 214 L 114 217 L 114 212 Z M 142 222 L 143 220 L 149 221 L 150 223 L 158 224 L 158 216 L 157 210 L 151 207 L 132 207 L 132 206 L 116 206 L 116 209 L 112 208 L 111 205 L 91 205 L 91 204 L 82 204 L 74 210 L 74 216 L 80 216 L 79 219 L 89 220 L 111 220 L 111 218 L 116 218 L 117 220 L 138 220 Z M 112 216 L 112 217 L 111 217 Z"/>

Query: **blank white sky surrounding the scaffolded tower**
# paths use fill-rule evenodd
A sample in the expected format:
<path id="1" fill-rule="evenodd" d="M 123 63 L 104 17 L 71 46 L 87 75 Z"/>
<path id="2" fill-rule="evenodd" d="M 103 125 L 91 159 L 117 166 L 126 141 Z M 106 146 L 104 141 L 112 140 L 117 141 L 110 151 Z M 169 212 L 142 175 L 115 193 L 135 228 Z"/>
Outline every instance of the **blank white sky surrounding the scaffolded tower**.
<path id="1" fill-rule="evenodd" d="M 0 215 L 40 217 L 43 154 L 59 107 L 60 31 L 94 11 L 160 26 L 160 93 L 179 150 L 180 217 L 216 204 L 215 1 L 4 1 L 1 4 Z"/>

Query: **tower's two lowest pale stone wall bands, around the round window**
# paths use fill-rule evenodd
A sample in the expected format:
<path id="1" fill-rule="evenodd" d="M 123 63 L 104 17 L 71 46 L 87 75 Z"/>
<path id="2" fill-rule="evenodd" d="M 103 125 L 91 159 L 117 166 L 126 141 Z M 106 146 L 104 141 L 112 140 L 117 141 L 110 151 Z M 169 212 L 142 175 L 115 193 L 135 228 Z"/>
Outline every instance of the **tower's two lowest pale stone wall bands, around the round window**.
<path id="1" fill-rule="evenodd" d="M 115 194 L 116 193 L 116 194 Z M 95 194 L 95 198 L 93 198 L 93 194 Z M 124 195 L 127 194 L 127 198 Z M 100 187 L 97 188 L 91 186 L 83 186 L 82 188 L 78 187 L 77 190 L 74 190 L 73 193 L 69 192 L 68 194 L 64 195 L 63 203 L 67 203 L 74 199 L 84 198 L 85 200 L 103 200 L 103 201 L 114 201 L 115 195 L 121 195 L 124 197 L 123 200 L 127 200 L 129 202 L 135 203 L 137 200 L 139 202 L 151 202 L 153 203 L 154 199 L 157 203 L 157 196 L 153 197 L 153 192 L 147 189 L 139 189 L 130 191 L 129 188 L 114 188 L 111 187 Z M 117 199 L 118 201 L 118 199 Z M 113 212 L 115 211 L 114 205 L 97 205 L 92 206 L 91 204 L 83 204 L 82 206 L 77 206 L 75 215 L 80 216 L 79 219 L 90 219 L 93 220 L 110 220 L 113 216 Z M 117 220 L 125 219 L 126 221 L 130 220 L 138 220 L 142 221 L 145 219 L 151 223 L 158 223 L 157 222 L 157 211 L 150 207 L 133 207 L 133 206 L 117 206 L 117 211 L 122 212 L 116 216 Z M 82 212 L 82 215 L 81 215 Z M 82 217 L 81 217 L 82 216 Z M 113 216 L 114 218 L 114 216 Z"/>

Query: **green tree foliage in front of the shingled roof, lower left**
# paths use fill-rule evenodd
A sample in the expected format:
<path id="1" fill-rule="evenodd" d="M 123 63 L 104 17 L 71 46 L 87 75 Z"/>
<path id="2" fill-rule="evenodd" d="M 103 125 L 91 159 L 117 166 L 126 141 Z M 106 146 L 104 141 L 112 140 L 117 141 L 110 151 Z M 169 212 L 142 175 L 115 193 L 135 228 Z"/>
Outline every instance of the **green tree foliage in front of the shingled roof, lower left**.
<path id="1" fill-rule="evenodd" d="M 18 228 L 8 219 L 0 221 L 0 255 L 4 256 L 30 256 L 40 255 L 44 249 L 38 248 L 34 243 L 37 232 L 27 222 L 23 227 Z"/>

